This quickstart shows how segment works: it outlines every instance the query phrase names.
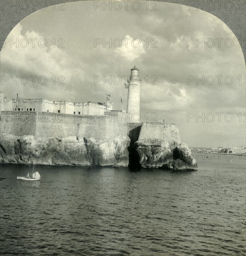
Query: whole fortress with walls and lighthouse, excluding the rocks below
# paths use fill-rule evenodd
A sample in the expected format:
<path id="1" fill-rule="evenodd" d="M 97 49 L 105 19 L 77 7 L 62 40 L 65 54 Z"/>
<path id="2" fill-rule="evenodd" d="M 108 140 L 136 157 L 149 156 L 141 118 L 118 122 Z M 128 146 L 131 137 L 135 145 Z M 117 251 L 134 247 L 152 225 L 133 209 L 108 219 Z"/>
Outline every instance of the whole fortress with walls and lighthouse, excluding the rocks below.
<path id="1" fill-rule="evenodd" d="M 132 129 L 139 128 L 139 133 L 144 134 L 144 137 L 167 139 L 172 130 L 172 138 L 180 142 L 175 124 L 140 123 L 140 83 L 139 69 L 134 66 L 126 85 L 126 112 L 113 110 L 113 103 L 110 101 L 101 103 L 22 99 L 18 94 L 16 99 L 10 100 L 1 93 L 1 131 L 19 136 L 83 135 L 110 139 L 117 135 L 129 135 Z"/>

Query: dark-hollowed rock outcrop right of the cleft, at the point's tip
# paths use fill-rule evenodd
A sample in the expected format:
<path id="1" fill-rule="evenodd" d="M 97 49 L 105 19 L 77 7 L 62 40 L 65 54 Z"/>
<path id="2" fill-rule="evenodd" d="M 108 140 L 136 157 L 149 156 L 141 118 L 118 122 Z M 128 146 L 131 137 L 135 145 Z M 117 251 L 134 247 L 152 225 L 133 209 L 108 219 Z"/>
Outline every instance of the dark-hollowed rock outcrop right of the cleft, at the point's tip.
<path id="1" fill-rule="evenodd" d="M 185 143 L 162 139 L 135 142 L 139 162 L 144 168 L 197 169 L 196 160 Z"/>

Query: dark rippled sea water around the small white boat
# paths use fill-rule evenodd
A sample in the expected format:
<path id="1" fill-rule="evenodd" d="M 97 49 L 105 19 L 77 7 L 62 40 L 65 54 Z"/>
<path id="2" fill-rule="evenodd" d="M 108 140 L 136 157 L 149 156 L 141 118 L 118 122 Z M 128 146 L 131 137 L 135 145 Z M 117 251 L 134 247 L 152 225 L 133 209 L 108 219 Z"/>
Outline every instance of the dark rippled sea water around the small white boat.
<path id="1" fill-rule="evenodd" d="M 1 255 L 245 255 L 246 160 L 197 171 L 1 164 Z"/>

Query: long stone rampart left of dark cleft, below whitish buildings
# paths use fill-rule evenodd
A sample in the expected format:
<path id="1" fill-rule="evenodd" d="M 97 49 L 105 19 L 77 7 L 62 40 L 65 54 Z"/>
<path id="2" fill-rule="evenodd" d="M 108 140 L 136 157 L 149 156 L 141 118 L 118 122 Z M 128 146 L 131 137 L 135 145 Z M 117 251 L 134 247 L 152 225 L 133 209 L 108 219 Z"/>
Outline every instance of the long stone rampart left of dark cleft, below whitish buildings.
<path id="1" fill-rule="evenodd" d="M 127 135 L 127 123 L 92 115 L 69 115 L 53 112 L 2 111 L 1 131 L 17 136 L 83 136 L 111 139 Z"/>

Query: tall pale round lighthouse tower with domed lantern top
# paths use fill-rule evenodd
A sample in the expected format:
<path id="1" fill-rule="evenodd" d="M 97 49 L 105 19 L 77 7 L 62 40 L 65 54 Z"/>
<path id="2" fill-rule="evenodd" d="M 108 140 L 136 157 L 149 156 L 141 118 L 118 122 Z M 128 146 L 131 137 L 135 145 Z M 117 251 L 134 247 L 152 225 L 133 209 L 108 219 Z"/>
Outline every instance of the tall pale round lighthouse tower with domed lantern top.
<path id="1" fill-rule="evenodd" d="M 128 80 L 126 112 L 130 114 L 130 122 L 140 122 L 140 83 L 139 69 L 134 66 Z"/>

